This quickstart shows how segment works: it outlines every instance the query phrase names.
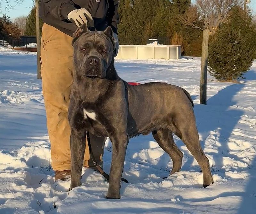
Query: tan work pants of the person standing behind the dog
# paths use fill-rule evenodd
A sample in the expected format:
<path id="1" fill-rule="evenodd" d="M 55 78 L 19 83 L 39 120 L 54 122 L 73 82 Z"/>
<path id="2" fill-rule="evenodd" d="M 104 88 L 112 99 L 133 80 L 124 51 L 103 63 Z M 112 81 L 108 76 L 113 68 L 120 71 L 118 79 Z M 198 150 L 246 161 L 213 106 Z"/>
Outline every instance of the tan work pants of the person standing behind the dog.
<path id="1" fill-rule="evenodd" d="M 73 82 L 72 37 L 44 23 L 41 40 L 41 74 L 47 129 L 54 171 L 71 169 L 70 126 L 67 113 Z M 92 151 L 100 164 L 105 138 L 90 135 Z M 84 142 L 85 143 L 85 142 Z M 93 166 L 86 141 L 84 166 Z"/>

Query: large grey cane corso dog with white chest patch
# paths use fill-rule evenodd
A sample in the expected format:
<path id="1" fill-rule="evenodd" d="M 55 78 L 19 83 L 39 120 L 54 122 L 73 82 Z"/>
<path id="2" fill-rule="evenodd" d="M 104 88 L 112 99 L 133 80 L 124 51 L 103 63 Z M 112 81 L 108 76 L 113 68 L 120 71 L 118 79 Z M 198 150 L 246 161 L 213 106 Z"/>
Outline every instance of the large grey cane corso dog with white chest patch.
<path id="1" fill-rule="evenodd" d="M 198 162 L 204 187 L 213 183 L 209 160 L 198 138 L 193 101 L 186 90 L 167 83 L 129 85 L 116 73 L 111 27 L 92 32 L 83 24 L 74 34 L 74 82 L 68 119 L 71 127 L 71 186 L 81 185 L 86 130 L 109 137 L 113 145 L 106 198 L 120 198 L 124 158 L 131 137 L 152 132 L 173 162 L 170 172 L 181 168 L 183 153 L 173 141 L 176 134 Z"/>

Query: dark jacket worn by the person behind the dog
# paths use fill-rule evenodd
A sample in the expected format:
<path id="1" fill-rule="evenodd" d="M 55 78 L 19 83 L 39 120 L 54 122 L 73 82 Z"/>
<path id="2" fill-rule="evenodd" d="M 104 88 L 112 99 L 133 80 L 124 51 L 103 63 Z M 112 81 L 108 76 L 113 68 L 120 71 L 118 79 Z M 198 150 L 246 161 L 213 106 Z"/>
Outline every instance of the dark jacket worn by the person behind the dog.
<path id="1" fill-rule="evenodd" d="M 68 13 L 85 8 L 92 14 L 96 30 L 103 31 L 111 26 L 114 33 L 117 33 L 119 23 L 117 7 L 118 0 L 41 0 L 39 15 L 44 23 L 73 36 L 77 26 L 68 21 Z"/>

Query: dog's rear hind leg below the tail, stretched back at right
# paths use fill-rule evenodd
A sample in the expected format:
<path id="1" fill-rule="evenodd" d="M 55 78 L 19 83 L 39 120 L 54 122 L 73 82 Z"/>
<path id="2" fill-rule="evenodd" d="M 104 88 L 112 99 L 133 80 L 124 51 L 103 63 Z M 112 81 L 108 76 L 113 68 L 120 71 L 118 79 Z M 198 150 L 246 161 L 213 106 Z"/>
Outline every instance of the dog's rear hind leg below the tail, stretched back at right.
<path id="1" fill-rule="evenodd" d="M 200 145 L 194 113 L 188 112 L 188 114 L 180 114 L 179 118 L 176 118 L 176 126 L 179 130 L 177 135 L 199 164 L 204 178 L 203 187 L 207 187 L 213 183 L 209 160 Z"/>

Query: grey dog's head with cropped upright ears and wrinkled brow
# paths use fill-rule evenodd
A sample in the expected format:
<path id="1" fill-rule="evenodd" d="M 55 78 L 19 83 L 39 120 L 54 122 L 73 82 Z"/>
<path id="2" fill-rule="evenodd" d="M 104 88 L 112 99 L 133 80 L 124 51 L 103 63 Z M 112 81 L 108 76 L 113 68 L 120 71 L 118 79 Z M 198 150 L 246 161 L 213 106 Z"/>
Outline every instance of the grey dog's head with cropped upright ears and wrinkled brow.
<path id="1" fill-rule="evenodd" d="M 89 31 L 86 24 L 74 33 L 74 63 L 76 76 L 83 78 L 105 78 L 113 60 L 115 49 L 113 31 Z"/>

